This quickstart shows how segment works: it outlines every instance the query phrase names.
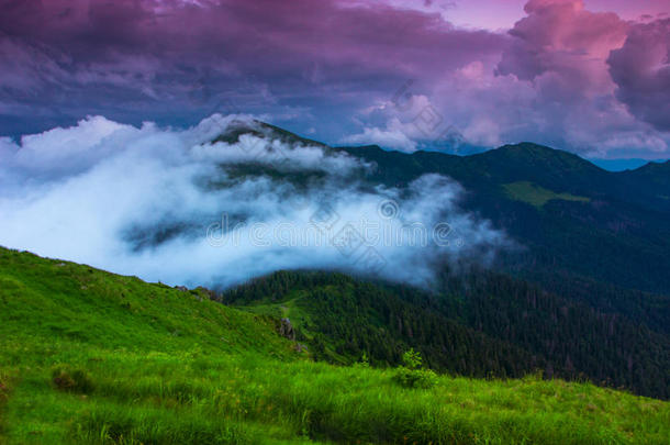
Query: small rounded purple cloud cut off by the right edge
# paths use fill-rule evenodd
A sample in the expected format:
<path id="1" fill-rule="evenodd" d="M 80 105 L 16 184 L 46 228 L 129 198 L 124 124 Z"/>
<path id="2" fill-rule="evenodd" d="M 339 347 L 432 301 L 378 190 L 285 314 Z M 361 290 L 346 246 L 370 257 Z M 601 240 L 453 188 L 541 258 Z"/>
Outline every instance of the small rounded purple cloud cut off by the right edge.
<path id="1" fill-rule="evenodd" d="M 633 26 L 607 64 L 616 97 L 630 112 L 658 130 L 670 131 L 670 19 Z"/>

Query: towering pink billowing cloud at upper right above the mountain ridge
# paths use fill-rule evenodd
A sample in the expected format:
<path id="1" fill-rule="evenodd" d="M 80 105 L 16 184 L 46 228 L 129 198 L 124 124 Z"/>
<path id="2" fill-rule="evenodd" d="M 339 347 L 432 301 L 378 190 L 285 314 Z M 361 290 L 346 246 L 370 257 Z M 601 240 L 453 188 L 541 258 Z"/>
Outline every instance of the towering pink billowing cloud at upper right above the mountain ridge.
<path id="1" fill-rule="evenodd" d="M 484 71 L 445 87 L 451 92 L 461 85 L 466 92 L 459 101 L 467 113 L 478 115 L 478 122 L 485 122 L 483 113 L 494 116 L 490 132 L 504 143 L 528 140 L 602 156 L 668 151 L 668 134 L 638 120 L 615 96 L 607 58 L 633 32 L 630 22 L 588 11 L 581 0 L 531 0 L 525 11 L 527 16 L 510 30 L 512 40 L 494 78 Z M 470 111 L 471 103 L 481 104 L 480 110 Z M 632 144 L 623 147 L 625 141 Z"/>

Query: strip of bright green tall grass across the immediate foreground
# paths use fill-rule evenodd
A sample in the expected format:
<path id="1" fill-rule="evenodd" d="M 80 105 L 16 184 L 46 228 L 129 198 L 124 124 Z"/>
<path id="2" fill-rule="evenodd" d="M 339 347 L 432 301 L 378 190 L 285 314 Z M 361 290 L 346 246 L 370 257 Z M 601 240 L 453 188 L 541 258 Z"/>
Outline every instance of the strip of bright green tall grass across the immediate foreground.
<path id="1" fill-rule="evenodd" d="M 405 388 L 395 370 L 279 361 L 256 354 L 83 355 L 93 389 L 75 394 L 45 369 L 18 388 L 30 415 L 71 443 L 662 444 L 667 403 L 590 383 L 442 376 Z M 27 376 L 26 376 L 27 377 Z M 51 420 L 60 410 L 63 418 Z M 42 411 L 42 413 L 40 412 Z M 9 405 L 9 420 L 26 412 Z M 64 421 L 64 419 L 67 419 Z M 40 422 L 37 422 L 40 423 Z M 11 430 L 10 430 L 11 431 Z M 21 433 L 21 432 L 18 432 Z M 29 437 L 30 432 L 10 438 Z"/>

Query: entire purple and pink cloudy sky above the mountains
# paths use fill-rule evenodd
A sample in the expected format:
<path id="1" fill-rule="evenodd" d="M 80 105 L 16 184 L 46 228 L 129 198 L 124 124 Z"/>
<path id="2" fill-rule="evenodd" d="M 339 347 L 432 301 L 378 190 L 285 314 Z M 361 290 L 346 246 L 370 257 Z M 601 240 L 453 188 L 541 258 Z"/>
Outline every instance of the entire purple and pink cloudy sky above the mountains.
<path id="1" fill-rule="evenodd" d="M 328 144 L 670 157 L 667 0 L 0 0 L 0 136 L 246 113 Z"/>

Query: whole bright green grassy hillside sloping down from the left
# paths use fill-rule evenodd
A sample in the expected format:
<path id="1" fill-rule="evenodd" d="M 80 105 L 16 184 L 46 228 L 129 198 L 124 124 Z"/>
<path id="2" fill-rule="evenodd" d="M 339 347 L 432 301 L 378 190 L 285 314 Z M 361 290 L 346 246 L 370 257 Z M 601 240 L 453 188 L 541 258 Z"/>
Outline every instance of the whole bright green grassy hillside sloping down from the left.
<path id="1" fill-rule="evenodd" d="M 667 402 L 537 377 L 336 367 L 277 321 L 0 249 L 0 443 L 667 443 Z M 398 376 L 426 377 L 428 388 Z M 401 385 L 401 382 L 405 385 Z"/>

